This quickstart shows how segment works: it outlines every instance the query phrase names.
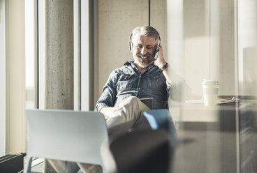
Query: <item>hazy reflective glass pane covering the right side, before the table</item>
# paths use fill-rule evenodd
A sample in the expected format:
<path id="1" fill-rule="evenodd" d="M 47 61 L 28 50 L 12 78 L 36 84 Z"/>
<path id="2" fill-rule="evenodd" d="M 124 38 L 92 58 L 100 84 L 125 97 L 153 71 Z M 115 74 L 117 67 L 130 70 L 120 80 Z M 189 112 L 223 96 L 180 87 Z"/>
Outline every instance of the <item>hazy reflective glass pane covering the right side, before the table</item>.
<path id="1" fill-rule="evenodd" d="M 174 172 L 257 171 L 256 7 L 254 0 L 167 1 Z M 204 105 L 214 88 L 216 104 Z"/>

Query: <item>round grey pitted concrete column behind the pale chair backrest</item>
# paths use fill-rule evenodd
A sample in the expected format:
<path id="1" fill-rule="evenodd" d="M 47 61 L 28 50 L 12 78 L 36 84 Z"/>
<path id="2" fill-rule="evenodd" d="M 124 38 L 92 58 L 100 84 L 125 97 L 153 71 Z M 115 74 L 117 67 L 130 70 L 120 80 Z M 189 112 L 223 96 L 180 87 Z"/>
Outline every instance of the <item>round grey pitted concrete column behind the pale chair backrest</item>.
<path id="1" fill-rule="evenodd" d="M 45 108 L 73 110 L 73 1 L 45 7 Z"/>

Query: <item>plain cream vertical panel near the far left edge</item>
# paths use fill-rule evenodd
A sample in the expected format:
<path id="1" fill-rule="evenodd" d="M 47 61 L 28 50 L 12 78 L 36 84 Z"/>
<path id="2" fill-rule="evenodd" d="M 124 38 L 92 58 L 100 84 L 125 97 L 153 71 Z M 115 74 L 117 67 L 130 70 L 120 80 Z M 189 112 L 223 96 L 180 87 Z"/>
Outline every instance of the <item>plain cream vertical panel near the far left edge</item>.
<path id="1" fill-rule="evenodd" d="M 24 0 L 6 2 L 6 153 L 20 153 L 26 148 Z"/>

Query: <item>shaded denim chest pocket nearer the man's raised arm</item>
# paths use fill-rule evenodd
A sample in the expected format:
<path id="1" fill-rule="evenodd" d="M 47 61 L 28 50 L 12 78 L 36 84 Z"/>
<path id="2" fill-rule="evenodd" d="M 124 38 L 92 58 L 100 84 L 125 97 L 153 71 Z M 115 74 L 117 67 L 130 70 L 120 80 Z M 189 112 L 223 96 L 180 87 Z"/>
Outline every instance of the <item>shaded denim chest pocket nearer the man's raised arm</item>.
<path id="1" fill-rule="evenodd" d="M 163 75 L 147 75 L 147 87 L 151 90 L 162 90 L 163 89 Z"/>

